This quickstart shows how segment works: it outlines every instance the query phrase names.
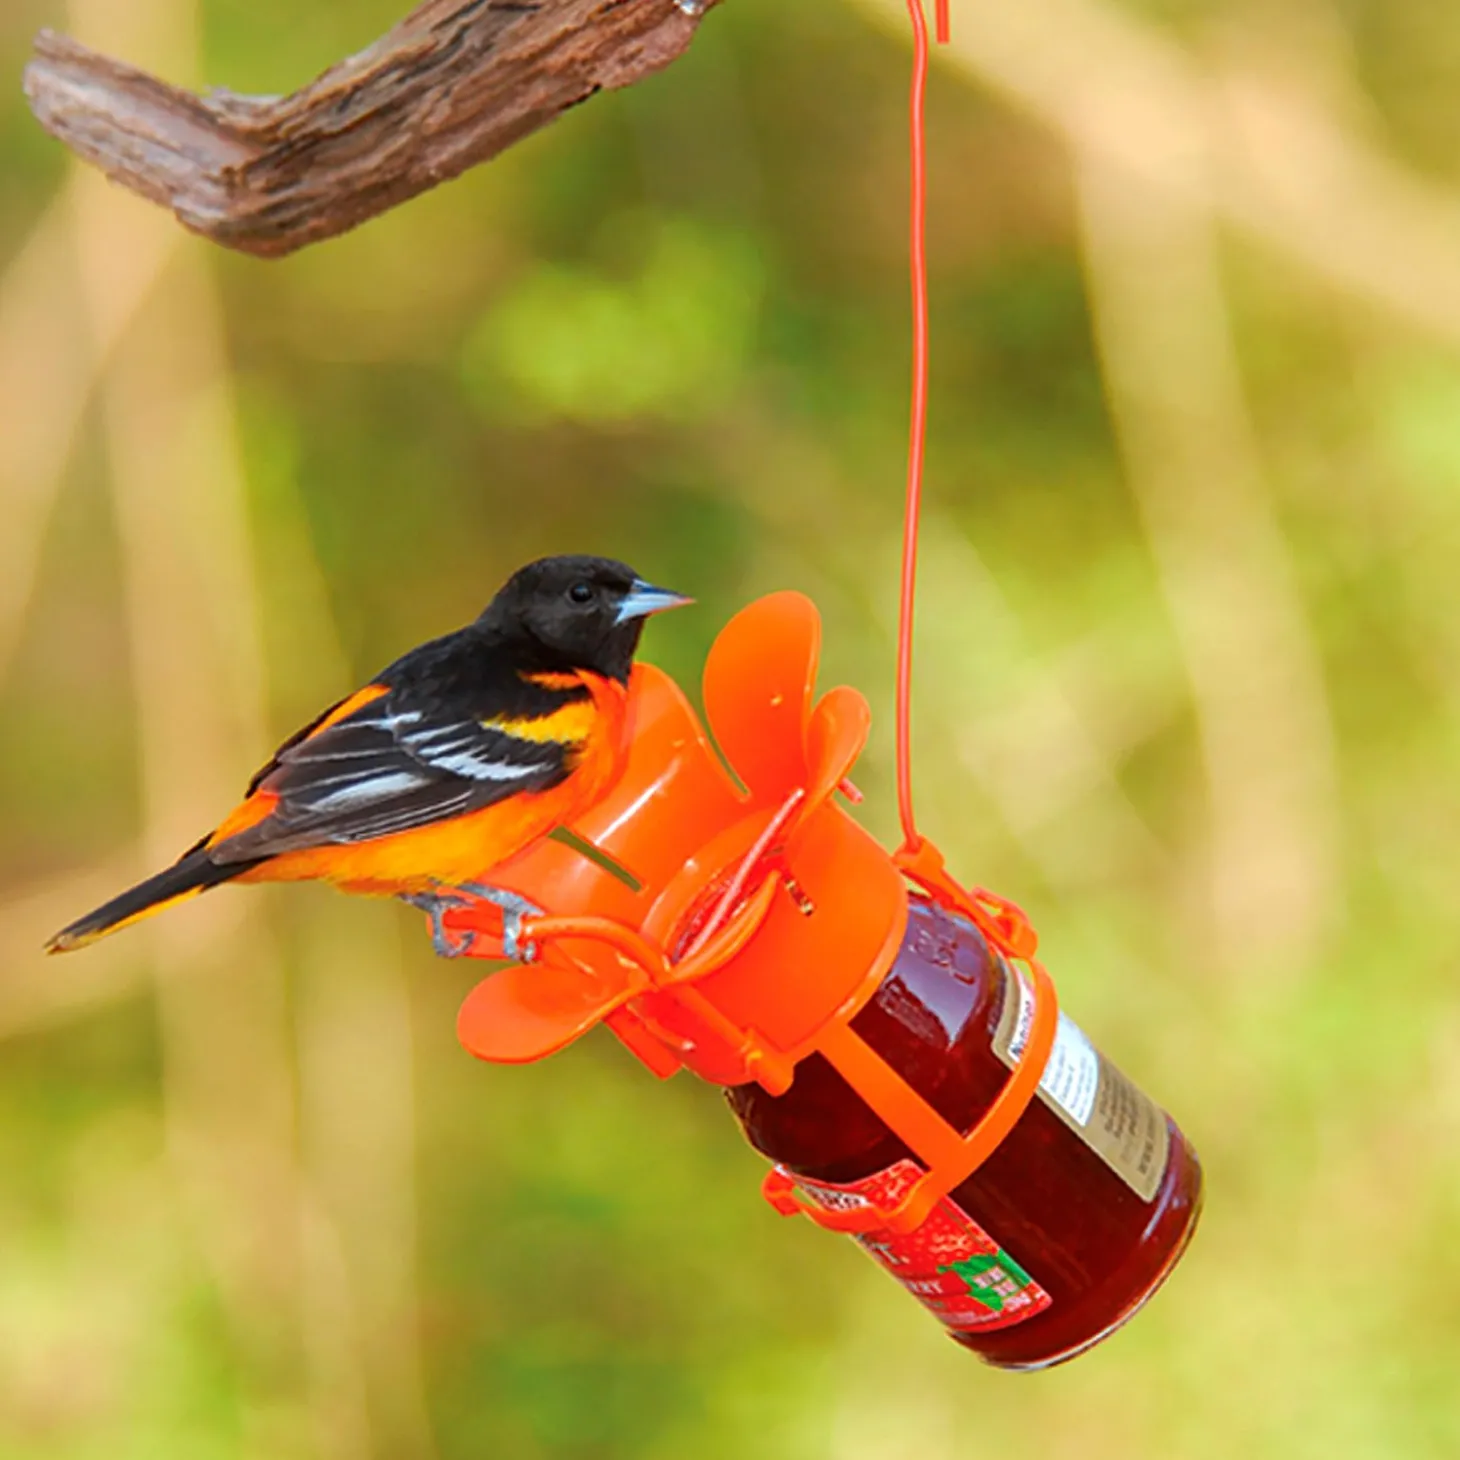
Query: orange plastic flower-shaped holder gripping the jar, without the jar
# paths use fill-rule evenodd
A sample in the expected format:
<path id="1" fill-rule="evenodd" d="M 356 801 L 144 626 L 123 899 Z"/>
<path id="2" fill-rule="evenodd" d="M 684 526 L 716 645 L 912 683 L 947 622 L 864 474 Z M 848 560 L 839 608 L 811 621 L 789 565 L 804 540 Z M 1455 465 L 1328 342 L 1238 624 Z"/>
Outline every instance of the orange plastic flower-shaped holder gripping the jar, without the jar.
<path id="1" fill-rule="evenodd" d="M 546 910 L 523 927 L 537 958 L 485 978 L 461 1006 L 457 1032 L 479 1058 L 526 1063 L 603 1022 L 660 1077 L 688 1067 L 777 1095 L 819 1053 L 924 1175 L 891 1207 L 831 1212 L 799 1200 L 794 1178 L 774 1168 L 765 1197 L 834 1231 L 907 1232 L 1023 1114 L 1058 1010 L 1034 959 L 1034 930 L 1013 904 L 961 888 L 926 840 L 889 856 L 837 804 L 838 790 L 850 791 L 870 711 L 845 686 L 815 698 L 819 647 L 819 615 L 797 593 L 771 594 L 730 620 L 704 676 L 724 761 L 675 682 L 635 667 L 625 772 L 572 828 L 618 872 L 558 841 L 493 869 L 495 886 Z M 908 882 L 1032 975 L 1028 1044 L 968 1133 L 851 1028 L 898 952 Z M 473 956 L 502 956 L 495 907 L 456 908 L 445 923 L 476 934 Z"/>

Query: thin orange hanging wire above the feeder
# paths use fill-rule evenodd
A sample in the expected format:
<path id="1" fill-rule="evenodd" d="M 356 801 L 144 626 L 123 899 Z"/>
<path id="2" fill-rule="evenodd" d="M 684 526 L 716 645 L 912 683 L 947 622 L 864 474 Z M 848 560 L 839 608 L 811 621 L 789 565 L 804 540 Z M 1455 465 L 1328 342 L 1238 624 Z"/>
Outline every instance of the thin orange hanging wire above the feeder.
<path id="1" fill-rule="evenodd" d="M 936 0 L 937 39 L 949 39 L 949 0 Z M 898 607 L 898 816 L 902 845 L 917 851 L 923 837 L 912 815 L 912 606 L 917 596 L 917 537 L 923 511 L 923 444 L 927 435 L 927 18 L 923 0 L 908 0 L 912 20 L 912 86 L 908 108 L 911 142 L 911 218 L 908 264 L 912 277 L 912 420 L 908 431 L 908 491 L 902 520 L 902 584 Z"/>

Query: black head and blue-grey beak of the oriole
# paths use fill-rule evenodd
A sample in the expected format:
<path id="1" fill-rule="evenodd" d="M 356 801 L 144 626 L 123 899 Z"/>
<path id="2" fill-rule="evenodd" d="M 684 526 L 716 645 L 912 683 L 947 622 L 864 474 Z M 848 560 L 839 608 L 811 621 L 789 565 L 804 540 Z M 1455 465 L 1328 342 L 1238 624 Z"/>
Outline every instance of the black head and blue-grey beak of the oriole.
<path id="1" fill-rule="evenodd" d="M 644 619 L 691 602 L 612 558 L 540 558 L 507 580 L 477 623 L 521 642 L 543 669 L 626 680 Z"/>

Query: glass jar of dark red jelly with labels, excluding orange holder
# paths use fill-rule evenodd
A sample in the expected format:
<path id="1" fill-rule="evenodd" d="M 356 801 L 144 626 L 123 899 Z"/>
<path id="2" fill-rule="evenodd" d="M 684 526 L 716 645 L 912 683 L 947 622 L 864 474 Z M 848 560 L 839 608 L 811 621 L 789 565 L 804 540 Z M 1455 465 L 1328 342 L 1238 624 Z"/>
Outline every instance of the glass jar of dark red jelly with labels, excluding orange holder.
<path id="1" fill-rule="evenodd" d="M 972 923 L 914 896 L 896 961 L 853 1029 L 946 1121 L 971 1130 L 1009 1079 L 1034 996 Z M 819 1054 L 771 1095 L 727 1098 L 761 1152 L 823 1206 L 896 1197 L 911 1152 Z M 1202 1204 L 1181 1130 L 1064 1015 L 1031 1101 L 997 1150 L 914 1232 L 858 1241 L 1000 1368 L 1045 1368 L 1130 1318 L 1175 1266 Z"/>

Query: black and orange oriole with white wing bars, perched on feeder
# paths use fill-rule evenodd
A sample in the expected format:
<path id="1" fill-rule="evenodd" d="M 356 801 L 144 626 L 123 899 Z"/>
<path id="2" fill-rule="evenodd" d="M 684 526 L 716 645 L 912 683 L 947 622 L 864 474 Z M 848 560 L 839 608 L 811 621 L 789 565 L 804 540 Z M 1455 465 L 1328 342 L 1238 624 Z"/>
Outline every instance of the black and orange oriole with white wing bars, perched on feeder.
<path id="1" fill-rule="evenodd" d="M 399 896 L 438 953 L 469 950 L 442 917 L 504 910 L 508 956 L 531 956 L 537 910 L 483 873 L 580 816 L 628 753 L 628 683 L 650 615 L 694 600 L 612 558 L 542 558 L 466 628 L 410 650 L 292 734 L 242 802 L 165 870 L 61 929 L 85 948 L 223 882 L 323 880 Z"/>

